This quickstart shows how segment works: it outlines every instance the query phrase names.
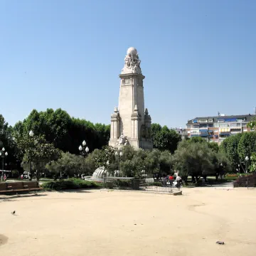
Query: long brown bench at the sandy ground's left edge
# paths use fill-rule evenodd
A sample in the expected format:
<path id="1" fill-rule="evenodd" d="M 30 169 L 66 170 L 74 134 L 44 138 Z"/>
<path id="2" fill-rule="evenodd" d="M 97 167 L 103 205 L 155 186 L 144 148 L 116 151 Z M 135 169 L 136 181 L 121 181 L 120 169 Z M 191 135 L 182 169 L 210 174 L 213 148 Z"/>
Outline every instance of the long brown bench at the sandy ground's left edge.
<path id="1" fill-rule="evenodd" d="M 37 181 L 0 183 L 0 194 L 40 191 Z"/>

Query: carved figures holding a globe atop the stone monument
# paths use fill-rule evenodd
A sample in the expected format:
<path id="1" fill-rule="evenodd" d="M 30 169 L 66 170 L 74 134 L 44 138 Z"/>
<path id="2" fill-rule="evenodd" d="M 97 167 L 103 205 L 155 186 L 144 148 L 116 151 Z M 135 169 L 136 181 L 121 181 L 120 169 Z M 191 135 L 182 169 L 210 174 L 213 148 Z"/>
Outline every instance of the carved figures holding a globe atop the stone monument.
<path id="1" fill-rule="evenodd" d="M 142 74 L 140 63 L 141 63 L 141 60 L 139 60 L 139 55 L 137 53 L 137 50 L 133 47 L 130 47 L 127 50 L 127 55 L 124 58 L 124 68 L 122 69 L 122 74 L 125 74 L 125 73 Z"/>

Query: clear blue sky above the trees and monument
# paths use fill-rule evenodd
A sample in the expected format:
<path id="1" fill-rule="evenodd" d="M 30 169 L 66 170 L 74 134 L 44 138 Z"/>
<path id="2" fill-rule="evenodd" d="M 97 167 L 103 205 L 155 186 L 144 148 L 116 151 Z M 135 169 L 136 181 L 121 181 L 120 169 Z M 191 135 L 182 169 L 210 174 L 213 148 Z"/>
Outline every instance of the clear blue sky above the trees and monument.
<path id="1" fill-rule="evenodd" d="M 152 122 L 253 112 L 256 1 L 0 0 L 0 113 L 110 123 L 130 46 Z"/>

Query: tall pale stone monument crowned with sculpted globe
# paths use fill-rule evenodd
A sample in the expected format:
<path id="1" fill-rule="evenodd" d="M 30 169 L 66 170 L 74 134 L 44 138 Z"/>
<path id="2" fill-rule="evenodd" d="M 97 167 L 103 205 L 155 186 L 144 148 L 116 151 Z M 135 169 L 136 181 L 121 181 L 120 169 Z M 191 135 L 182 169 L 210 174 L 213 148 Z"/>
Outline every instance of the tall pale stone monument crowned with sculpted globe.
<path id="1" fill-rule="evenodd" d="M 144 87 L 141 60 L 133 47 L 127 50 L 120 78 L 119 105 L 111 115 L 110 146 L 134 146 L 152 149 L 151 117 L 144 109 Z"/>

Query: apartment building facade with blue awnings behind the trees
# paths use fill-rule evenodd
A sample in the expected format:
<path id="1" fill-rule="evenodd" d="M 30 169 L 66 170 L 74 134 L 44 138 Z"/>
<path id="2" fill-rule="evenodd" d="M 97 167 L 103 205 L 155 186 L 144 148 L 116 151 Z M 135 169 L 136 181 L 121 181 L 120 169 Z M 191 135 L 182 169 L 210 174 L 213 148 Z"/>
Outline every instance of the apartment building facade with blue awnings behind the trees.
<path id="1" fill-rule="evenodd" d="M 232 135 L 250 132 L 254 129 L 247 127 L 247 123 L 256 117 L 256 114 L 231 115 L 219 114 L 217 117 L 196 117 L 188 120 L 186 132 L 188 138 L 202 137 L 208 142 L 220 144 Z"/>

